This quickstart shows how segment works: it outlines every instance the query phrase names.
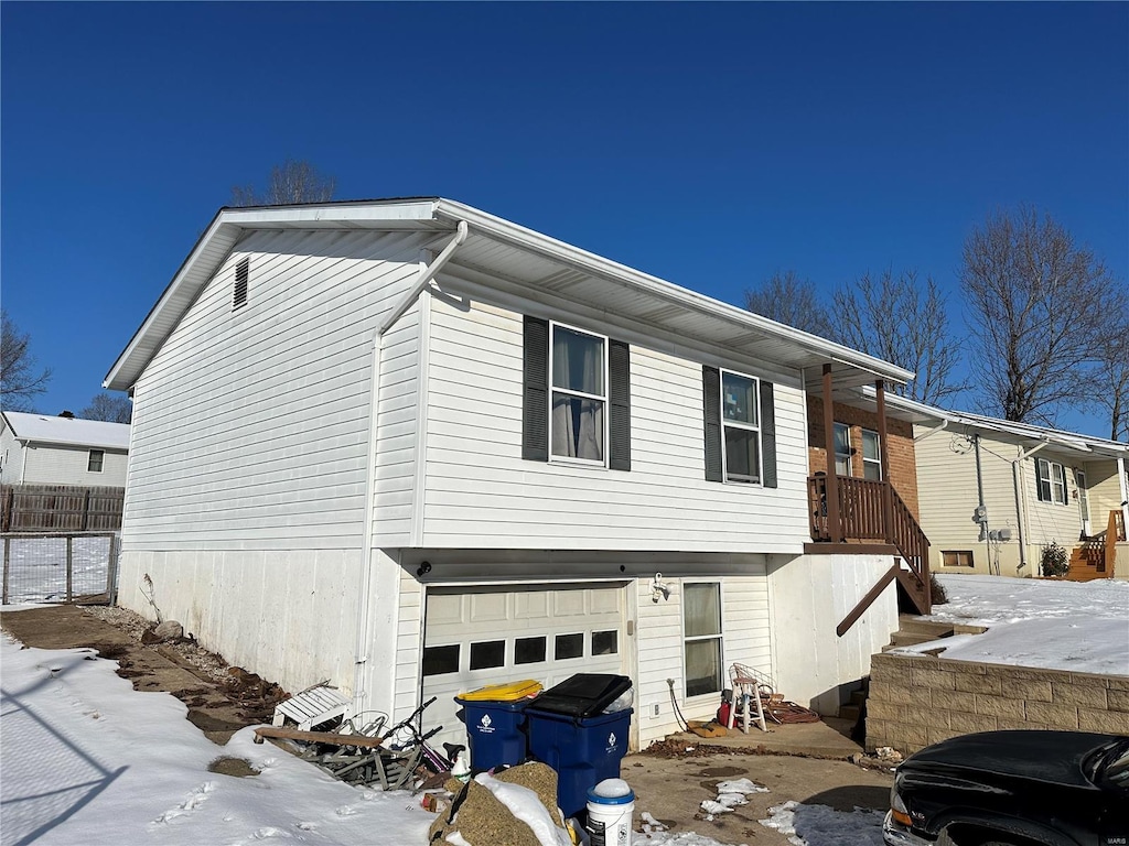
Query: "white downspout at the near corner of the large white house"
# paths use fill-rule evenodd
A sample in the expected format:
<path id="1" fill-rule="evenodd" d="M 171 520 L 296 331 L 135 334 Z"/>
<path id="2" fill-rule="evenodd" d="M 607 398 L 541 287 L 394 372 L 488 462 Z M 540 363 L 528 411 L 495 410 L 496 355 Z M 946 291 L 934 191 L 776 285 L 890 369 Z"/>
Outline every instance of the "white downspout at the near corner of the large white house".
<path id="1" fill-rule="evenodd" d="M 365 700 L 369 694 L 366 689 L 368 682 L 368 646 L 370 643 L 369 628 L 371 626 L 371 588 L 373 588 L 373 508 L 376 502 L 376 442 L 377 442 L 377 413 L 380 404 L 380 362 L 384 352 L 384 334 L 392 328 L 395 323 L 404 316 L 412 307 L 423 289 L 436 277 L 444 265 L 450 261 L 455 249 L 465 240 L 469 229 L 466 221 L 458 221 L 455 237 L 447 243 L 443 252 L 430 265 L 422 268 L 411 290 L 400 300 L 388 317 L 380 323 L 373 338 L 373 378 L 369 382 L 369 420 L 368 420 L 368 453 L 367 453 L 367 477 L 365 482 L 365 539 L 361 549 L 361 582 L 360 582 L 360 606 L 357 611 L 357 644 L 353 653 L 353 713 L 359 714 L 365 711 Z M 419 460 L 419 457 L 417 457 Z M 391 716 L 391 714 L 390 714 Z"/>

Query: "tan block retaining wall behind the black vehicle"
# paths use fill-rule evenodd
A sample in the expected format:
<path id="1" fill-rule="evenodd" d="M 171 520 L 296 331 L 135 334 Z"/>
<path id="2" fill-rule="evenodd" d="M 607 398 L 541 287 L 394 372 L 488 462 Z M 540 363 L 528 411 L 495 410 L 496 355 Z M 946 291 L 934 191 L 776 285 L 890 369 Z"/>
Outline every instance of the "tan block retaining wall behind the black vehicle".
<path id="1" fill-rule="evenodd" d="M 866 713 L 867 750 L 903 755 L 996 729 L 1129 735 L 1129 677 L 884 653 L 870 658 Z"/>

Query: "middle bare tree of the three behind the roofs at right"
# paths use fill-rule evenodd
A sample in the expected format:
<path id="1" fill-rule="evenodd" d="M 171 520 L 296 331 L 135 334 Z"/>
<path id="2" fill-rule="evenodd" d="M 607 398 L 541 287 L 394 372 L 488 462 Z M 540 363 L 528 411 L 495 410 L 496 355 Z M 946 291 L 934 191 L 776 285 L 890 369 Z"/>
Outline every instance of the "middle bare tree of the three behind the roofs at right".
<path id="1" fill-rule="evenodd" d="M 835 291 L 834 303 L 837 341 L 917 373 L 895 389 L 901 396 L 938 405 L 968 387 L 956 378 L 962 340 L 931 276 L 922 285 L 913 270 L 866 273 Z"/>

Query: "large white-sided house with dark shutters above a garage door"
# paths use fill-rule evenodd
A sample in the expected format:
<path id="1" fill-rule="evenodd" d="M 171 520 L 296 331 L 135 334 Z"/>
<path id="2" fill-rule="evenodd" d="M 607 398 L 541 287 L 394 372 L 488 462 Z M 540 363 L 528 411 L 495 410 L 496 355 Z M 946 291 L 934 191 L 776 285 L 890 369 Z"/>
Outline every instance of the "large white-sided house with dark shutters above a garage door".
<path id="1" fill-rule="evenodd" d="M 225 209 L 105 381 L 121 602 L 449 733 L 460 691 L 616 672 L 638 746 L 734 662 L 834 713 L 927 573 L 842 543 L 893 499 L 809 475 L 807 403 L 910 376 L 447 200 Z"/>

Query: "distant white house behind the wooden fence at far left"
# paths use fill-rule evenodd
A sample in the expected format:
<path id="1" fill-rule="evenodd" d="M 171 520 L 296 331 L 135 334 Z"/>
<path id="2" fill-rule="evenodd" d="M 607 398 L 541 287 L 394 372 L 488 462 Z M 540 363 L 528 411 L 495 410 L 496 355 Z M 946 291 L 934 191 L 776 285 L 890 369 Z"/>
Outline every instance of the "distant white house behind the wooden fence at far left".
<path id="1" fill-rule="evenodd" d="M 130 428 L 0 412 L 0 484 L 124 487 Z"/>

